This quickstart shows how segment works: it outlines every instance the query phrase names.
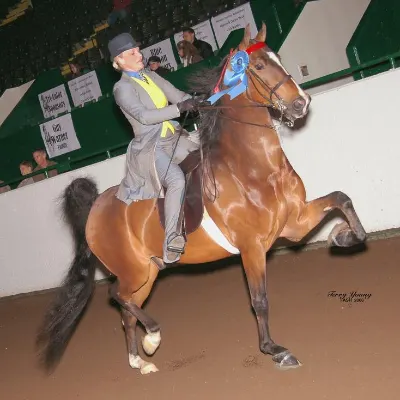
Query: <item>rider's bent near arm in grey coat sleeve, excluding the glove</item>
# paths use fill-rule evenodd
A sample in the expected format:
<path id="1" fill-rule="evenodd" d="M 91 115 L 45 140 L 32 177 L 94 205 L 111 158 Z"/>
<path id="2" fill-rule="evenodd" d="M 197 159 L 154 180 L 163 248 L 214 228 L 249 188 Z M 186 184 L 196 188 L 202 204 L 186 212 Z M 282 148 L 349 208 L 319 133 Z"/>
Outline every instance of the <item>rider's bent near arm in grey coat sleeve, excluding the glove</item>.
<path id="1" fill-rule="evenodd" d="M 180 116 L 176 104 L 160 109 L 146 108 L 140 101 L 136 91 L 132 90 L 131 84 L 117 86 L 114 89 L 114 98 L 122 110 L 143 125 L 159 124 Z"/>

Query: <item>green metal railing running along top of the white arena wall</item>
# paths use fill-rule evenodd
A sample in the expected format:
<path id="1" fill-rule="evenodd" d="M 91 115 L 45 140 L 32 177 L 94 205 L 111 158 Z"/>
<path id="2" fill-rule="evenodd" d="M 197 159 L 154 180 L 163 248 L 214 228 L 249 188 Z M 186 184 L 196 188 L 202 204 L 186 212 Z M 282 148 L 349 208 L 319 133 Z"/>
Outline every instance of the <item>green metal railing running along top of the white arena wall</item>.
<path id="1" fill-rule="evenodd" d="M 373 61 L 369 61 L 369 62 L 360 64 L 357 67 L 342 69 L 340 71 L 337 71 L 337 72 L 334 72 L 332 74 L 323 76 L 321 78 L 313 79 L 311 81 L 308 81 L 308 82 L 305 82 L 305 83 L 301 84 L 300 86 L 302 87 L 302 89 L 310 89 L 310 88 L 315 87 L 315 86 L 320 86 L 320 85 L 323 85 L 323 84 L 326 84 L 326 83 L 334 82 L 335 80 L 342 79 L 342 78 L 345 78 L 347 76 L 351 76 L 352 74 L 354 74 L 356 72 L 361 72 L 361 71 L 366 70 L 368 68 L 376 67 L 376 66 L 379 66 L 381 64 L 385 64 L 387 62 L 390 62 L 392 69 L 395 69 L 396 68 L 395 60 L 398 60 L 398 59 L 400 59 L 400 51 L 398 51 L 396 53 L 393 53 L 393 54 L 390 54 L 390 55 L 385 56 L 385 57 L 380 57 L 380 58 L 378 58 L 376 60 L 373 60 Z M 194 122 L 193 120 L 188 121 L 184 125 L 184 127 L 188 126 L 188 125 L 192 125 L 193 122 Z M 53 165 L 51 167 L 44 168 L 44 169 L 42 169 L 40 171 L 33 172 L 33 173 L 29 174 L 29 175 L 24 175 L 22 177 L 20 176 L 18 178 L 9 180 L 7 182 L 0 183 L 0 187 L 7 186 L 7 185 L 13 185 L 13 184 L 22 182 L 24 179 L 27 179 L 27 178 L 30 178 L 30 177 L 33 177 L 33 176 L 39 175 L 39 174 L 44 174 L 45 177 L 48 178 L 48 172 L 50 172 L 53 169 L 56 169 L 58 173 L 64 173 L 64 172 L 72 171 L 72 170 L 75 169 L 75 168 L 72 167 L 73 164 L 82 163 L 84 161 L 89 160 L 90 158 L 99 157 L 99 156 L 103 156 L 104 159 L 113 158 L 115 156 L 113 156 L 111 153 L 114 152 L 114 151 L 117 151 L 117 150 L 126 149 L 126 147 L 128 146 L 129 142 L 130 142 L 130 140 L 125 141 L 125 142 L 120 143 L 120 144 L 117 144 L 115 146 L 104 148 L 102 150 L 93 151 L 93 152 L 91 152 L 89 154 L 85 154 L 82 157 L 71 157 L 67 161 L 63 161 L 63 162 L 61 162 L 61 163 L 59 163 L 57 165 Z M 96 162 L 99 162 L 99 161 L 96 161 Z M 93 164 L 95 164 L 96 162 L 94 162 Z"/>

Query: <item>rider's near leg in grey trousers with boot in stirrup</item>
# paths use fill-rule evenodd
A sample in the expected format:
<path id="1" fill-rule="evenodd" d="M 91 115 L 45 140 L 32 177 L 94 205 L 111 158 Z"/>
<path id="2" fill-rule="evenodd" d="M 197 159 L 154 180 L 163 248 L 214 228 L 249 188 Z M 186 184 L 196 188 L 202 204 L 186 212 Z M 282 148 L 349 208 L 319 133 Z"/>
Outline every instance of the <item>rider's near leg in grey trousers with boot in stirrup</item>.
<path id="1" fill-rule="evenodd" d="M 165 240 L 164 262 L 176 262 L 185 247 L 185 238 L 182 235 L 182 225 L 179 224 L 179 214 L 185 192 L 185 176 L 180 167 L 161 148 L 156 148 L 155 164 L 157 174 L 164 187 L 165 196 Z M 168 172 L 167 172 L 168 170 Z M 172 250 L 169 251 L 168 247 Z M 174 251 L 175 250 L 175 251 Z"/>

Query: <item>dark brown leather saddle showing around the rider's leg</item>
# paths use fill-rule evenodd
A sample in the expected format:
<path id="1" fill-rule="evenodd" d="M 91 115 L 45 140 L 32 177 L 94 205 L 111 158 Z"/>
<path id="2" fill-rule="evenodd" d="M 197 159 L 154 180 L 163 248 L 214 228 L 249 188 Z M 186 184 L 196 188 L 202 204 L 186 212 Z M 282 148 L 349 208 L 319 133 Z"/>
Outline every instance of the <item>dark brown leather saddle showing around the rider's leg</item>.
<path id="1" fill-rule="evenodd" d="M 185 174 L 186 181 L 183 212 L 181 212 L 183 221 L 180 221 L 183 224 L 182 233 L 184 236 L 193 233 L 200 226 L 203 219 L 204 204 L 201 191 L 200 160 L 200 151 L 197 150 L 190 153 L 179 164 Z M 164 188 L 164 190 L 166 189 Z M 158 199 L 157 205 L 160 223 L 165 230 L 164 198 Z"/>

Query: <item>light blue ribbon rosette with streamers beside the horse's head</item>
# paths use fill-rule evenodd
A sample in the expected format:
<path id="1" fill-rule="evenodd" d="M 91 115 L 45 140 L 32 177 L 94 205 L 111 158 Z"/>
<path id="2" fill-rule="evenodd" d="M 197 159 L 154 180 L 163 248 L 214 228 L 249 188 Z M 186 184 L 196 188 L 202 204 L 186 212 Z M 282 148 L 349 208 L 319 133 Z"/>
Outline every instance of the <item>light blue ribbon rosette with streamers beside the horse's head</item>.
<path id="1" fill-rule="evenodd" d="M 247 89 L 247 75 L 246 68 L 249 66 L 250 58 L 245 51 L 238 51 L 231 59 L 231 70 L 226 70 L 224 75 L 224 85 L 228 86 L 227 89 L 213 94 L 207 101 L 214 104 L 225 94 L 234 99 Z"/>

